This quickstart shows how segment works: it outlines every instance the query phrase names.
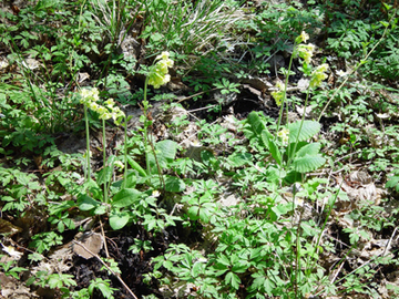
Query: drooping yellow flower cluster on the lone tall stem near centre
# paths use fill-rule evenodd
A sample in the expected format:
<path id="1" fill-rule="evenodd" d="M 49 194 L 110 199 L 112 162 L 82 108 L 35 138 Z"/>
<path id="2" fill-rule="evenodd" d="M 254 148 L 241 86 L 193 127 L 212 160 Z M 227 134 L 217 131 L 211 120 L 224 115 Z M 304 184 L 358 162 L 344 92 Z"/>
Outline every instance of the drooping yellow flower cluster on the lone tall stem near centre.
<path id="1" fill-rule="evenodd" d="M 170 59 L 168 52 L 162 52 L 161 55 L 155 58 L 157 62 L 150 68 L 149 73 L 149 84 L 153 85 L 155 89 L 161 87 L 161 85 L 166 84 L 171 81 L 171 75 L 168 74 L 167 68 L 173 66 L 173 60 Z"/>

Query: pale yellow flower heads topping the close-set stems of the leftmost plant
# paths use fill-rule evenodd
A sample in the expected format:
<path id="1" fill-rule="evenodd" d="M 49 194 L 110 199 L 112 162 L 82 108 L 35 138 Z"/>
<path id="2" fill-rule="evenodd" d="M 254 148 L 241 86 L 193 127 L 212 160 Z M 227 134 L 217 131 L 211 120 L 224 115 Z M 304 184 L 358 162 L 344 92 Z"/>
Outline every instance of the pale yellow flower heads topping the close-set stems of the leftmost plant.
<path id="1" fill-rule="evenodd" d="M 102 106 L 96 103 L 100 100 L 98 89 L 81 90 L 79 94 L 81 95 L 81 104 L 99 113 L 100 120 L 113 118 L 116 125 L 121 124 L 125 114 L 119 106 L 115 106 L 115 102 L 112 99 L 105 101 L 105 106 Z"/>

